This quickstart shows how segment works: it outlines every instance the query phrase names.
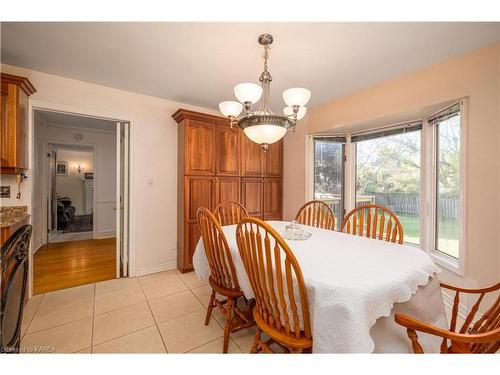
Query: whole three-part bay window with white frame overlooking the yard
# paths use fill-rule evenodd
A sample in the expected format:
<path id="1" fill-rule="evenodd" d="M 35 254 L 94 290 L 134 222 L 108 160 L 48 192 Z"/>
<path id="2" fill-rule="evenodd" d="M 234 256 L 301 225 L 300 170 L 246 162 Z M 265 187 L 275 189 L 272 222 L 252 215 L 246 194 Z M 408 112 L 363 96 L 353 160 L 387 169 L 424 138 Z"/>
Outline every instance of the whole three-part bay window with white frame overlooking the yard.
<path id="1" fill-rule="evenodd" d="M 314 199 L 331 205 L 339 229 L 355 206 L 389 208 L 401 221 L 405 243 L 460 273 L 464 103 L 397 126 L 312 137 Z"/>

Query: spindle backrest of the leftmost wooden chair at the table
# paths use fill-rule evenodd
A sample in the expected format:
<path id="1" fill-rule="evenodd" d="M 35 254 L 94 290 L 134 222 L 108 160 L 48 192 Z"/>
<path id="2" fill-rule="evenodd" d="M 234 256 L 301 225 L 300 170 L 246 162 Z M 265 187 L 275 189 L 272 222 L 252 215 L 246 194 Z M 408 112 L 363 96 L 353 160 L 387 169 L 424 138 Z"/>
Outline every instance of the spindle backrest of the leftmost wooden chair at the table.
<path id="1" fill-rule="evenodd" d="M 207 208 L 197 211 L 198 226 L 210 265 L 210 279 L 219 289 L 239 292 L 240 286 L 229 246 L 217 218 Z"/>

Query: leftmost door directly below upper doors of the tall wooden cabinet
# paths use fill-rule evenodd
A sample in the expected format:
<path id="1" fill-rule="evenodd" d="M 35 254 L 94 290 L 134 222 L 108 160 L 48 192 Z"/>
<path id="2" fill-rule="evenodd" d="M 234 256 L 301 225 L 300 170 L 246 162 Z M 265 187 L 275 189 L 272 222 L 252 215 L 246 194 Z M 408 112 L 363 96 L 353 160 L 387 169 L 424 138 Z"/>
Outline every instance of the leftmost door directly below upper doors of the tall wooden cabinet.
<path id="1" fill-rule="evenodd" d="M 185 219 L 189 222 L 196 222 L 196 211 L 198 211 L 198 208 L 214 209 L 214 177 L 184 177 L 184 188 L 186 189 L 186 198 L 184 200 Z"/>

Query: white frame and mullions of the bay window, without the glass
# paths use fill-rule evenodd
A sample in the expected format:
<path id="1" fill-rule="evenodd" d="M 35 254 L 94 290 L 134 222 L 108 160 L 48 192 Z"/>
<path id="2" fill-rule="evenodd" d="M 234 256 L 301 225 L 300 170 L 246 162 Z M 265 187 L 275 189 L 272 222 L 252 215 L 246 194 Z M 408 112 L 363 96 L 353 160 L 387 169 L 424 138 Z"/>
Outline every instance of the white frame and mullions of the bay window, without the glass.
<path id="1" fill-rule="evenodd" d="M 436 249 L 436 203 L 437 203 L 437 132 L 436 127 L 428 121 L 432 116 L 421 119 L 422 129 L 420 133 L 420 245 L 405 243 L 408 246 L 415 246 L 426 251 L 434 261 L 446 268 L 447 270 L 463 276 L 465 272 L 466 260 L 466 174 L 467 174 L 467 135 L 468 135 L 468 98 L 450 101 L 456 105 L 460 105 L 460 186 L 459 186 L 459 257 L 454 258 L 446 253 Z M 442 110 L 451 107 L 449 104 L 444 106 Z M 436 112 L 439 113 L 442 110 Z M 395 125 L 394 127 L 397 127 Z M 369 130 L 373 131 L 375 129 Z M 329 134 L 326 136 L 345 137 L 344 144 L 344 186 L 343 186 L 343 202 L 345 213 L 348 213 L 355 207 L 356 199 L 356 143 L 351 142 L 351 134 L 338 133 Z M 307 199 L 314 199 L 314 138 L 319 135 L 309 135 L 308 142 L 308 191 L 306 192 Z M 337 218 L 342 221 L 343 218 Z"/>

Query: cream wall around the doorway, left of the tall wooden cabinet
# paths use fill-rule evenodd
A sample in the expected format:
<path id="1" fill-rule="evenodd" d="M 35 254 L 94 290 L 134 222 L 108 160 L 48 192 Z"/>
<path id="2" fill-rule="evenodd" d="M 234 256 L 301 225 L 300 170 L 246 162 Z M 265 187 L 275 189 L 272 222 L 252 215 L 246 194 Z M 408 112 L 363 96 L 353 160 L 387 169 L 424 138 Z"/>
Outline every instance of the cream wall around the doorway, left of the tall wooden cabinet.
<path id="1" fill-rule="evenodd" d="M 37 92 L 32 103 L 74 108 L 83 113 L 132 123 L 131 194 L 135 212 L 131 231 L 135 242 L 135 269 L 139 274 L 176 266 L 177 246 L 177 124 L 179 108 L 215 113 L 152 96 L 91 84 L 20 67 L 1 65 L 2 72 L 29 78 Z M 107 115 L 104 115 L 107 114 Z M 28 171 L 32 176 L 33 170 Z M 31 183 L 31 179 L 25 184 Z M 31 194 L 31 189 L 28 189 Z"/>

